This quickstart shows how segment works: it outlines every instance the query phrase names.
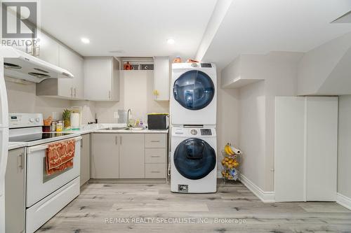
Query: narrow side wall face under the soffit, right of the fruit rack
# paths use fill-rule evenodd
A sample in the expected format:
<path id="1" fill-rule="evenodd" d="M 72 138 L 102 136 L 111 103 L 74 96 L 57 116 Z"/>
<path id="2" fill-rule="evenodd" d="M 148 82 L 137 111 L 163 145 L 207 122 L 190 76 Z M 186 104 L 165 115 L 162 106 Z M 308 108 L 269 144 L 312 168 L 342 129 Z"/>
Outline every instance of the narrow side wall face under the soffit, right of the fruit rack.
<path id="1" fill-rule="evenodd" d="M 258 187 L 265 187 L 265 83 L 239 89 L 239 143 L 244 152 L 242 174 Z"/>

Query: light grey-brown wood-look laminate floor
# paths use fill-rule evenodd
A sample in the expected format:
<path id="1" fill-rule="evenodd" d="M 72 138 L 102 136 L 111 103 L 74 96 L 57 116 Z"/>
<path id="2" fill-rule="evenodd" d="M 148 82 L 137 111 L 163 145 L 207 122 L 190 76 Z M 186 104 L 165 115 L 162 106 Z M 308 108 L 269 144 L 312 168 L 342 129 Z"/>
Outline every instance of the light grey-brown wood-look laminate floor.
<path id="1" fill-rule="evenodd" d="M 88 183 L 37 232 L 351 232 L 351 211 L 331 202 L 264 204 L 241 183 L 213 194 L 168 184 Z"/>

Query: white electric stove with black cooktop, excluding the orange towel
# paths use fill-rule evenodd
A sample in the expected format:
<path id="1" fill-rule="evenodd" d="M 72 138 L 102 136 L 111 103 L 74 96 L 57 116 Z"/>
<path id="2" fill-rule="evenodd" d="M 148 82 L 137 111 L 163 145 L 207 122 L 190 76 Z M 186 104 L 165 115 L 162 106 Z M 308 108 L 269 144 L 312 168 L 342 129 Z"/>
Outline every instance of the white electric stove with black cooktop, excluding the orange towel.
<path id="1" fill-rule="evenodd" d="M 9 113 L 9 142 L 25 145 L 26 232 L 35 232 L 79 195 L 81 136 L 42 132 L 41 113 Z M 46 174 L 46 149 L 53 142 L 75 140 L 73 167 Z"/>

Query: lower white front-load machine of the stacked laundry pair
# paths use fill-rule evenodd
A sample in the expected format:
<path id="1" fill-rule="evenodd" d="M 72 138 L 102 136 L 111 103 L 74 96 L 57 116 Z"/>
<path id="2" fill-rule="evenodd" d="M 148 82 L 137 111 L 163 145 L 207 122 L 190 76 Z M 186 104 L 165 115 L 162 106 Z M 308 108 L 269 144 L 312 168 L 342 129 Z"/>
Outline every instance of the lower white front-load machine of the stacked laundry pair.
<path id="1" fill-rule="evenodd" d="M 171 191 L 217 191 L 215 128 L 171 129 Z"/>

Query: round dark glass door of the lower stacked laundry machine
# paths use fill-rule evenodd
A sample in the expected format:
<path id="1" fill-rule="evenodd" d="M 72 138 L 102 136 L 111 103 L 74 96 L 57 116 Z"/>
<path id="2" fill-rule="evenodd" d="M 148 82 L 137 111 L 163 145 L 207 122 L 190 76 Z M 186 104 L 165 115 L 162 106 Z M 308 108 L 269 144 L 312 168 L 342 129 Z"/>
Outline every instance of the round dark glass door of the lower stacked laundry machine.
<path id="1" fill-rule="evenodd" d="M 182 176 L 199 180 L 216 167 L 216 152 L 204 140 L 187 139 L 177 146 L 173 162 Z"/>

